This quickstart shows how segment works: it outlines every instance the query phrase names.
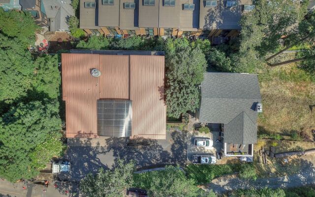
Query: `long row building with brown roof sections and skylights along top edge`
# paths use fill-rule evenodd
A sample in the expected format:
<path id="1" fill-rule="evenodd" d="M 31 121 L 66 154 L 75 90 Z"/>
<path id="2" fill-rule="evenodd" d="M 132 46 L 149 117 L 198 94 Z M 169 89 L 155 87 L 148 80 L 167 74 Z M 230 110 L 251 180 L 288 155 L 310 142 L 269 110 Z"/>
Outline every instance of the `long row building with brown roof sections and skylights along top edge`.
<path id="1" fill-rule="evenodd" d="M 80 28 L 105 35 L 235 36 L 252 0 L 80 0 Z"/>

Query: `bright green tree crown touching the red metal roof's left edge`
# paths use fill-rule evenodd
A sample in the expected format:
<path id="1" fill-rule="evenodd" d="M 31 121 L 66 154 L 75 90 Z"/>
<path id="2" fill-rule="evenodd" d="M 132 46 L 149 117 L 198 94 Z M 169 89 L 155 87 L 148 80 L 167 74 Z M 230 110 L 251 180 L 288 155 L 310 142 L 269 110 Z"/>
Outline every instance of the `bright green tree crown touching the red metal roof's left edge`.
<path id="1" fill-rule="evenodd" d="M 57 99 L 61 85 L 61 76 L 58 69 L 57 55 L 43 55 L 35 62 L 35 81 L 32 83 L 37 92 L 47 94 L 51 99 Z"/>

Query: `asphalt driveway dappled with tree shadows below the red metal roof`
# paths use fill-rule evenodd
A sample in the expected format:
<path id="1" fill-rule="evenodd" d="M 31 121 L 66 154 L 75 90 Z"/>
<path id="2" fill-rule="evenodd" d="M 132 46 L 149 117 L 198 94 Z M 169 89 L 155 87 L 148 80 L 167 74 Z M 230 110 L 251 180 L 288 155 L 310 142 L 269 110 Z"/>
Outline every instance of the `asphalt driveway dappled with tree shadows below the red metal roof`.
<path id="1" fill-rule="evenodd" d="M 187 132 L 167 132 L 166 139 L 129 139 L 109 137 L 99 139 L 68 139 L 68 149 L 64 160 L 70 161 L 71 172 L 56 177 L 57 189 L 62 194 L 78 194 L 79 182 L 88 173 L 96 173 L 99 168 L 110 169 L 119 159 L 128 163 L 134 161 L 137 169 L 183 165 L 187 162 Z M 144 144 L 145 146 L 130 146 Z"/>

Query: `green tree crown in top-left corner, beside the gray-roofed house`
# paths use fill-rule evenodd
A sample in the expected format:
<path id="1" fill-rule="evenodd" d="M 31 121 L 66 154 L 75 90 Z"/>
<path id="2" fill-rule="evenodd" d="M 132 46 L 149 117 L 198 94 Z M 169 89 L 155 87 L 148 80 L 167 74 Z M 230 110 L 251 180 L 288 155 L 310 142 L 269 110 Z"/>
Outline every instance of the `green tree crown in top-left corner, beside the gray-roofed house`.
<path id="1" fill-rule="evenodd" d="M 16 10 L 4 12 L 0 8 L 0 32 L 11 38 L 17 37 L 22 45 L 27 46 L 33 43 L 35 41 L 34 33 L 38 29 L 31 13 Z"/>

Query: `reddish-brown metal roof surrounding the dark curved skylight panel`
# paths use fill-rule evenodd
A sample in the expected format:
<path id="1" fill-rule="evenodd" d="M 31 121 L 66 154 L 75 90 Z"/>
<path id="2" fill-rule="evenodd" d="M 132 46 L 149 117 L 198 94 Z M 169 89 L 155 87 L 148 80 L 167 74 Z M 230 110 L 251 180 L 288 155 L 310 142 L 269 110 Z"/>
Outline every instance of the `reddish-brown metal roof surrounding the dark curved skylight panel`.
<path id="1" fill-rule="evenodd" d="M 67 137 L 98 137 L 97 99 L 129 99 L 131 138 L 165 139 L 164 56 L 62 54 L 62 78 Z"/>

